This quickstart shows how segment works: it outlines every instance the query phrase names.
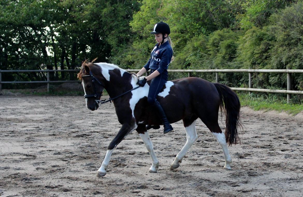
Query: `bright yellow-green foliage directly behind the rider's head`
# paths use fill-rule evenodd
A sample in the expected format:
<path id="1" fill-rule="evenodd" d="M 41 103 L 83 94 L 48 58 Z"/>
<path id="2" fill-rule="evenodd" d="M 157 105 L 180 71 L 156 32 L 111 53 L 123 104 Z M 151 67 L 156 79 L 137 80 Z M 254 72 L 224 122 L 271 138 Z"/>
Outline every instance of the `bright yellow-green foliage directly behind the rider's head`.
<path id="1" fill-rule="evenodd" d="M 170 37 L 175 44 L 175 57 L 183 56 L 171 63 L 172 67 L 183 67 L 187 44 L 201 35 L 228 28 L 234 24 L 237 13 L 241 13 L 241 1 L 211 0 L 145 0 L 140 11 L 134 14 L 130 25 L 137 37 L 132 45 L 117 59 L 124 68 L 141 68 L 148 60 L 151 49 L 156 44 L 149 34 L 155 23 L 167 22 L 171 28 Z M 202 38 L 202 37 L 200 37 Z M 199 42 L 199 41 L 198 41 Z M 175 65 L 176 64 L 176 65 Z"/>

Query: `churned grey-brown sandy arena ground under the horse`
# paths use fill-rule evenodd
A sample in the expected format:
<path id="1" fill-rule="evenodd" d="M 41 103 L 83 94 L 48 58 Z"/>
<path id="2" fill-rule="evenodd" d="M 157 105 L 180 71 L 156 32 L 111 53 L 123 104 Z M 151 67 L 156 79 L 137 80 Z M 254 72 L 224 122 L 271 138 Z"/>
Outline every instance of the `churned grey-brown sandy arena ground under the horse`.
<path id="1" fill-rule="evenodd" d="M 113 104 L 92 112 L 81 96 L 1 95 L 0 196 L 303 196 L 302 114 L 243 107 L 241 116 L 245 133 L 229 147 L 231 171 L 222 169 L 221 146 L 201 120 L 197 142 L 171 171 L 186 141 L 179 121 L 174 133 L 149 132 L 158 173 L 147 172 L 151 158 L 134 131 L 97 178 L 120 127 Z"/>

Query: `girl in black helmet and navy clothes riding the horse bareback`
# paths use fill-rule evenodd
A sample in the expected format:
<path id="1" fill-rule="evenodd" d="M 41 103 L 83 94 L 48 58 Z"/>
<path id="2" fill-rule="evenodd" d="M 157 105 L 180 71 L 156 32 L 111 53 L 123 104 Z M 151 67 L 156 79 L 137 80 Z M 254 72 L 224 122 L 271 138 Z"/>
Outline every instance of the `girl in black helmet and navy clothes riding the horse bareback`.
<path id="1" fill-rule="evenodd" d="M 167 117 L 160 103 L 156 99 L 157 95 L 161 91 L 162 87 L 168 80 L 168 65 L 173 57 L 173 50 L 171 48 L 171 40 L 168 37 L 170 34 L 170 28 L 168 24 L 164 22 L 158 22 L 154 26 L 154 30 L 151 34 L 155 34 L 155 39 L 158 44 L 155 45 L 154 49 L 151 51 L 151 57 L 149 58 L 147 64 L 137 73 L 138 77 L 146 73 L 149 69 L 150 74 L 142 80 L 139 80 L 138 85 L 143 87 L 147 81 L 151 80 L 147 101 L 150 105 L 157 110 L 162 123 L 164 125 L 164 134 L 174 129 L 169 124 Z M 159 125 L 146 125 L 146 129 L 159 129 Z"/>

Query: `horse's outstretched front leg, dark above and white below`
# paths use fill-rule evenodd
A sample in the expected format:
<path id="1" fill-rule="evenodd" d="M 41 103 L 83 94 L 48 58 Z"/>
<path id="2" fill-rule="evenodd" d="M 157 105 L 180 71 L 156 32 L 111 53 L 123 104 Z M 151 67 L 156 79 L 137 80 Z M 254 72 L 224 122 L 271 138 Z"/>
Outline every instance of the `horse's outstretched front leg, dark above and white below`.
<path id="1" fill-rule="evenodd" d="M 115 138 L 112 140 L 112 142 L 108 145 L 107 147 L 107 152 L 105 155 L 105 158 L 102 162 L 101 167 L 98 169 L 97 172 L 97 177 L 102 177 L 106 175 L 106 169 L 108 167 L 109 161 L 111 159 L 112 156 L 112 152 L 114 151 L 114 149 L 116 148 L 116 146 L 129 134 L 131 133 L 133 130 L 135 130 L 137 127 L 136 124 L 133 125 L 129 125 L 129 124 L 123 124 L 119 130 L 119 132 L 117 133 L 117 135 L 115 136 Z"/>

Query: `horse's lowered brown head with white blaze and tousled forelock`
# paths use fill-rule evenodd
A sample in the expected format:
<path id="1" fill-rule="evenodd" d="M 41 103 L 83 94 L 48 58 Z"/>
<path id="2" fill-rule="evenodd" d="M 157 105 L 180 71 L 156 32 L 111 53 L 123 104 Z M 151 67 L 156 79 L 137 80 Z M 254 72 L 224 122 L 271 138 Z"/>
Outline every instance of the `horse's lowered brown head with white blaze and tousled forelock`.
<path id="1" fill-rule="evenodd" d="M 99 66 L 93 64 L 94 61 L 82 62 L 81 70 L 78 73 L 78 79 L 82 80 L 86 107 L 92 111 L 98 109 L 98 101 L 105 87 L 104 78 L 100 76 L 101 69 Z"/>

